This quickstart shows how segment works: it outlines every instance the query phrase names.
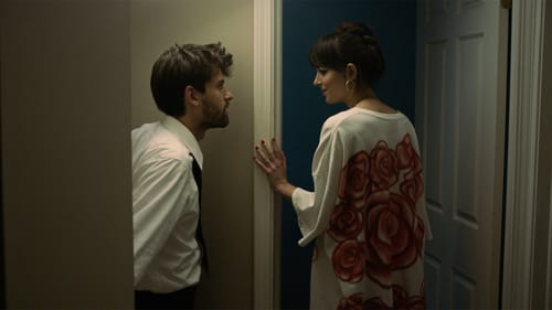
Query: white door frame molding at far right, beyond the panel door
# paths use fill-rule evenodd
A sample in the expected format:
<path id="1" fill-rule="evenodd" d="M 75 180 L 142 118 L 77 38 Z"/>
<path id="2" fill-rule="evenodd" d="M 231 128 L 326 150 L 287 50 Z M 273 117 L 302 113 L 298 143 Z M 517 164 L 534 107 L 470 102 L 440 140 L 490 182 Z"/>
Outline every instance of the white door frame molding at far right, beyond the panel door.
<path id="1" fill-rule="evenodd" d="M 513 1 L 503 309 L 531 309 L 545 0 Z"/>

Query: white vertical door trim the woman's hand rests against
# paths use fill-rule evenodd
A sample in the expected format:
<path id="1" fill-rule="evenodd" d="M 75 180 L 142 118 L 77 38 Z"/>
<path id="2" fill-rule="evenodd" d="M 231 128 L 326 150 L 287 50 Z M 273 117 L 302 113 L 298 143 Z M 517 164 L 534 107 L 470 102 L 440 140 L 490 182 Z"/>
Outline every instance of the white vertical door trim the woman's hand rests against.
<path id="1" fill-rule="evenodd" d="M 254 6 L 254 81 L 253 139 L 280 137 L 280 53 L 279 2 L 253 0 Z M 276 222 L 276 197 L 258 169 L 253 175 L 253 306 L 254 309 L 278 309 L 279 304 L 279 225 Z"/>

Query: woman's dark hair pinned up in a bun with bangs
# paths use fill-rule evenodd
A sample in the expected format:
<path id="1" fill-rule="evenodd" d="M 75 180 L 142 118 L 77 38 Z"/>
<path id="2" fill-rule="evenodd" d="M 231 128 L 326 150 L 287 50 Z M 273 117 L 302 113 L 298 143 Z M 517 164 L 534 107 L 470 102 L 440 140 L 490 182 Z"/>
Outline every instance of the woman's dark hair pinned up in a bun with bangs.
<path id="1" fill-rule="evenodd" d="M 310 47 L 310 64 L 343 72 L 348 63 L 358 68 L 360 85 L 371 86 L 385 71 L 385 61 L 372 30 L 361 22 L 341 23 Z"/>

